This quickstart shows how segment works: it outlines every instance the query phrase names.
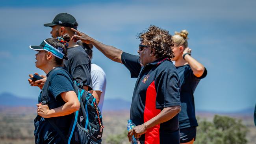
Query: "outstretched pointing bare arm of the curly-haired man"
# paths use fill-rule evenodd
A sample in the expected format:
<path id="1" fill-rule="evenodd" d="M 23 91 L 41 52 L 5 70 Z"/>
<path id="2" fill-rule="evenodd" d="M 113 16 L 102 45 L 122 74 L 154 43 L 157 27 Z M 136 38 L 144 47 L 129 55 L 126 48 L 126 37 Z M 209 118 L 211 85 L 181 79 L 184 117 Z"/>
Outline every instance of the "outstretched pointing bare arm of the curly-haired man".
<path id="1" fill-rule="evenodd" d="M 93 44 L 98 50 L 100 50 L 100 52 L 102 52 L 106 57 L 108 57 L 112 61 L 115 61 L 117 63 L 122 63 L 121 61 L 122 50 L 119 50 L 113 46 L 108 46 L 99 41 L 96 41 L 95 39 L 89 37 L 85 33 L 82 33 L 73 28 L 71 28 L 71 30 L 76 32 L 76 34 L 72 36 L 71 40 L 79 39 L 82 42 L 85 42 L 87 44 Z"/>

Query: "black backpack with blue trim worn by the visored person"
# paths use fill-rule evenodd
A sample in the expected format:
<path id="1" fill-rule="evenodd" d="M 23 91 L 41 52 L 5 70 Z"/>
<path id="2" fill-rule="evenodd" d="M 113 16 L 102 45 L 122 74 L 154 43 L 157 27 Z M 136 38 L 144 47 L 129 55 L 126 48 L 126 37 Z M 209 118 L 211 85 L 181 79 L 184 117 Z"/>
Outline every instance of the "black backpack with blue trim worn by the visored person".
<path id="1" fill-rule="evenodd" d="M 70 76 L 69 72 L 61 67 L 56 67 L 52 70 L 50 75 L 47 77 L 45 85 L 42 91 L 42 104 L 47 104 L 49 95 L 48 87 L 50 85 L 51 76 L 57 74 L 58 70 L 64 70 L 67 75 Z M 68 144 L 101 144 L 102 133 L 104 126 L 102 125 L 102 114 L 100 109 L 96 104 L 96 99 L 89 92 L 80 89 L 79 84 L 74 82 L 74 90 L 80 101 L 80 109 L 74 113 L 74 118 L 72 120 L 69 135 L 65 137 L 63 133 L 59 130 L 52 119 L 45 118 L 58 132 L 59 136 L 63 139 L 65 143 Z"/>

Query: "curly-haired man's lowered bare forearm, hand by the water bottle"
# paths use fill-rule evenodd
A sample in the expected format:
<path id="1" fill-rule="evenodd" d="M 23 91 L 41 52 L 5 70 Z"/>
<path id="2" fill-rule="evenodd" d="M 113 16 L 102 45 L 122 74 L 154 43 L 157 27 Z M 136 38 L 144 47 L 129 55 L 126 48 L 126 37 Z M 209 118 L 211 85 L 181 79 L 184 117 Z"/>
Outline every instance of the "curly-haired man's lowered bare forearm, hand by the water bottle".
<path id="1" fill-rule="evenodd" d="M 157 124 L 161 124 L 163 122 L 166 122 L 168 120 L 171 120 L 176 114 L 180 113 L 181 107 L 180 106 L 173 106 L 173 107 L 165 107 L 163 110 L 154 118 L 151 118 L 147 122 L 145 122 L 142 125 L 134 127 L 131 131 L 128 133 L 129 140 L 132 138 L 132 135 L 134 135 L 135 138 L 141 137 L 144 133 L 147 132 L 147 129 L 156 126 Z"/>

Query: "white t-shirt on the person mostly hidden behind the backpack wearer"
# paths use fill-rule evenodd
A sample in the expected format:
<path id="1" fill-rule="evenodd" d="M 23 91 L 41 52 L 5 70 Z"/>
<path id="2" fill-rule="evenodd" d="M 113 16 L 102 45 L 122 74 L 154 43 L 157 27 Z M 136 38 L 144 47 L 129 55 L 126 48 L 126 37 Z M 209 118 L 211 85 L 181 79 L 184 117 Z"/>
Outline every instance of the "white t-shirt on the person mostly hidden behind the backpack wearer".
<path id="1" fill-rule="evenodd" d="M 98 107 L 102 112 L 107 79 L 106 79 L 106 74 L 102 70 L 102 68 L 98 65 L 95 65 L 94 63 L 91 64 L 91 80 L 93 82 L 93 90 L 95 91 L 98 90 L 102 92 L 100 95 L 100 102 L 98 103 Z"/>

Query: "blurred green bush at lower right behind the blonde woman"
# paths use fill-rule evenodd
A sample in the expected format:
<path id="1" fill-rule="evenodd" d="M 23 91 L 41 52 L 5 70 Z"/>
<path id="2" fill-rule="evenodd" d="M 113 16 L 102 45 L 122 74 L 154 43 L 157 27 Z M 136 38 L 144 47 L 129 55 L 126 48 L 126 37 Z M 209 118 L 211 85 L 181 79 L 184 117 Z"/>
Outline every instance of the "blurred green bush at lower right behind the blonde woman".
<path id="1" fill-rule="evenodd" d="M 197 138 L 194 144 L 246 144 L 247 127 L 241 120 L 215 115 L 213 122 L 198 118 Z"/>

